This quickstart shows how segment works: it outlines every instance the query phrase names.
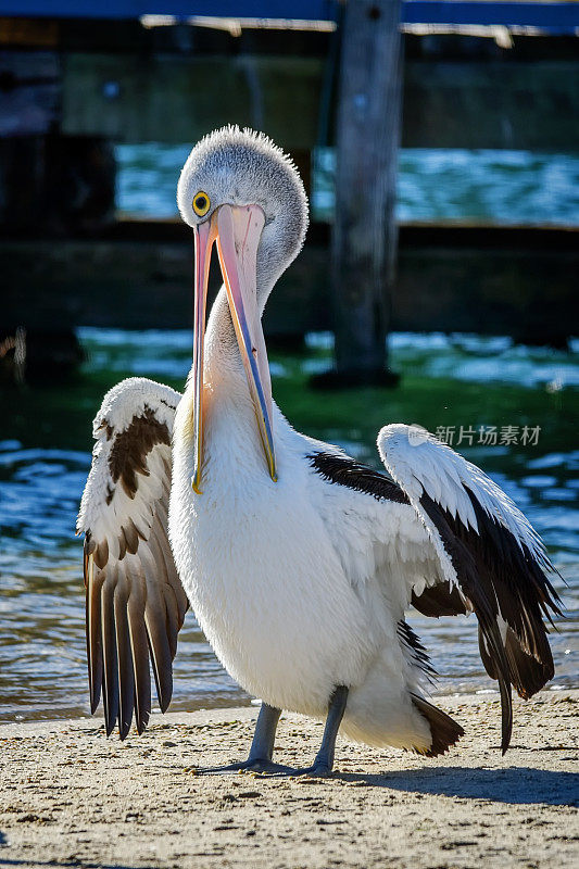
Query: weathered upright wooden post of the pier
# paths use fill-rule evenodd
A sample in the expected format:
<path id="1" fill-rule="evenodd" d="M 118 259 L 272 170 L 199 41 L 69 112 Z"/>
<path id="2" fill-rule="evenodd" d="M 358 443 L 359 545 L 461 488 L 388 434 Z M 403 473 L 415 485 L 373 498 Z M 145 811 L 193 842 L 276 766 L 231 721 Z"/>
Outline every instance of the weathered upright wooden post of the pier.
<path id="1" fill-rule="evenodd" d="M 398 242 L 400 12 L 400 0 L 345 4 L 331 245 L 336 370 L 329 379 L 337 386 L 398 379 L 387 368 L 386 337 Z"/>

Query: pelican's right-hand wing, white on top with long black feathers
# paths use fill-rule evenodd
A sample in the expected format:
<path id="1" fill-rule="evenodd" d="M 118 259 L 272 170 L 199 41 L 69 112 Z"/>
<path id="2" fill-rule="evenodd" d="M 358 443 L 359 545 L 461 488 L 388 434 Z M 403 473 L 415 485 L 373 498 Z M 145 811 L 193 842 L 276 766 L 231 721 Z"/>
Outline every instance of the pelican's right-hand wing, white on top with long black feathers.
<path id="1" fill-rule="evenodd" d="M 418 427 L 382 428 L 378 450 L 437 553 L 435 581 L 415 585 L 427 616 L 474 612 L 480 654 L 499 681 L 502 748 L 513 727 L 511 685 L 530 697 L 553 677 L 543 617 L 561 615 L 544 544 L 513 501 L 476 465 Z"/>

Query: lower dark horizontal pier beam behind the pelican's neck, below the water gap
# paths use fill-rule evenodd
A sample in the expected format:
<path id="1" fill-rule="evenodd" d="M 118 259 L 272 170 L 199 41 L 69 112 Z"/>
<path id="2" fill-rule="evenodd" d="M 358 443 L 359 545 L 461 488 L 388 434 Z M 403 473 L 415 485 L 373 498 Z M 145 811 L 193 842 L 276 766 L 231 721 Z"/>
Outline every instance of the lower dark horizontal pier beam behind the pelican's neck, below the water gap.
<path id="1" fill-rule="evenodd" d="M 511 335 L 561 344 L 577 331 L 578 235 L 528 227 L 403 226 L 392 329 Z M 127 224 L 110 236 L 0 241 L 2 328 L 190 328 L 189 230 L 179 224 Z M 328 241 L 327 227 L 314 225 L 267 305 L 269 337 L 331 328 Z"/>

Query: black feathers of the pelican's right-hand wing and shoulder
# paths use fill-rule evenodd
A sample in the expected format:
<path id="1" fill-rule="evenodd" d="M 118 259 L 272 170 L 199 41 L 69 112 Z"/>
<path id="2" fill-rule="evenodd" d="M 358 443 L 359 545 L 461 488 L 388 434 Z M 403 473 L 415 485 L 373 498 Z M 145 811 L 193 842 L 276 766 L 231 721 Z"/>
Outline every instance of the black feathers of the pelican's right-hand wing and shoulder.
<path id="1" fill-rule="evenodd" d="M 330 483 L 364 492 L 379 501 L 411 504 L 404 489 L 348 456 L 312 453 L 314 470 Z M 387 463 L 388 464 L 388 463 Z M 553 677 L 553 656 L 543 618 L 551 624 L 561 615 L 561 600 L 549 574 L 546 555 L 531 552 L 502 522 L 489 515 L 474 492 L 464 486 L 473 505 L 478 532 L 441 507 L 426 490 L 420 506 L 433 524 L 457 577 L 412 593 L 413 605 L 439 618 L 475 612 L 479 646 L 489 676 L 496 679 L 502 707 L 502 750 L 513 729 L 511 685 L 528 698 Z"/>

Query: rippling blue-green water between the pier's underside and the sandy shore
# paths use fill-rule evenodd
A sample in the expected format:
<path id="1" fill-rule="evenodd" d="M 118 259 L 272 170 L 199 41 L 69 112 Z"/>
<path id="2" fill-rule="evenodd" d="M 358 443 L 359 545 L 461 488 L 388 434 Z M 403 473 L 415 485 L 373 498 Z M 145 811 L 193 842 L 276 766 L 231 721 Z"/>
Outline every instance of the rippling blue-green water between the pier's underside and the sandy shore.
<path id="1" fill-rule="evenodd" d="M 91 420 L 106 389 L 146 375 L 180 389 L 190 364 L 186 332 L 85 329 L 88 360 L 66 385 L 4 388 L 0 394 L 0 719 L 88 714 L 81 541 L 74 536 L 90 464 Z M 543 534 L 568 582 L 568 617 L 552 642 L 554 689 L 577 685 L 579 664 L 579 354 L 512 347 L 507 339 L 394 335 L 393 391 L 313 393 L 309 376 L 327 365 L 329 338 L 303 355 L 270 354 L 274 394 L 293 425 L 378 466 L 375 439 L 390 421 L 454 428 L 454 445 L 511 494 Z M 480 427 L 498 443 L 478 443 Z M 537 443 L 521 443 L 523 429 Z M 502 443 L 501 430 L 517 429 Z M 511 432 L 513 434 L 513 432 Z M 492 690 L 474 619 L 410 620 L 442 675 L 439 690 Z M 180 635 L 173 708 L 248 697 L 215 660 L 191 614 Z"/>

